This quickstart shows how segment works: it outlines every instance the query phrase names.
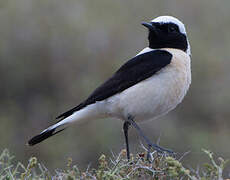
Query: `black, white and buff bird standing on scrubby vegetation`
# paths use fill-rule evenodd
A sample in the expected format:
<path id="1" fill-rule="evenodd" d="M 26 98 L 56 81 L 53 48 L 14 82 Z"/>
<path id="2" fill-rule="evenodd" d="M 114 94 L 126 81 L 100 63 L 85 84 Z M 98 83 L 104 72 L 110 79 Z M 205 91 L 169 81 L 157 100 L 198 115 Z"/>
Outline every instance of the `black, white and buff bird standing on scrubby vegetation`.
<path id="1" fill-rule="evenodd" d="M 158 119 L 181 103 L 191 84 L 191 48 L 185 25 L 173 16 L 159 16 L 142 25 L 148 30 L 148 46 L 88 98 L 57 116 L 59 121 L 31 138 L 28 145 L 38 144 L 75 122 L 116 118 L 123 122 L 128 160 L 130 126 L 147 144 L 147 158 L 151 148 L 159 153 L 173 152 L 152 143 L 139 123 Z"/>

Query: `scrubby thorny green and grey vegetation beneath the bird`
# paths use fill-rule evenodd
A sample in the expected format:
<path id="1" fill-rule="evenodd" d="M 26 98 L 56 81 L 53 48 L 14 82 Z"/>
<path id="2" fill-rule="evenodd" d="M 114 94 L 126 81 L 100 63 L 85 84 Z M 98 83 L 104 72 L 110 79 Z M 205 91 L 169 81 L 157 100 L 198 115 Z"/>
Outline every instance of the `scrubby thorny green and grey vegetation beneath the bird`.
<path id="1" fill-rule="evenodd" d="M 131 179 L 189 179 L 189 180 L 223 180 L 223 170 L 227 161 L 223 158 L 214 160 L 213 154 L 207 150 L 204 152 L 209 156 L 211 163 L 206 163 L 197 170 L 185 168 L 180 160 L 173 157 L 159 155 L 152 152 L 150 161 L 146 160 L 146 152 L 131 155 L 130 161 L 126 159 L 126 150 L 118 155 L 107 158 L 104 154 L 100 156 L 96 168 L 88 167 L 82 171 L 77 165 L 73 165 L 72 159 L 68 159 L 64 169 L 56 169 L 52 175 L 50 171 L 36 157 L 29 159 L 24 166 L 22 163 L 13 162 L 14 157 L 5 149 L 0 155 L 0 179 L 63 179 L 63 180 L 131 180 Z M 16 164 L 16 165 L 15 165 Z M 226 179 L 227 180 L 227 179 Z"/>

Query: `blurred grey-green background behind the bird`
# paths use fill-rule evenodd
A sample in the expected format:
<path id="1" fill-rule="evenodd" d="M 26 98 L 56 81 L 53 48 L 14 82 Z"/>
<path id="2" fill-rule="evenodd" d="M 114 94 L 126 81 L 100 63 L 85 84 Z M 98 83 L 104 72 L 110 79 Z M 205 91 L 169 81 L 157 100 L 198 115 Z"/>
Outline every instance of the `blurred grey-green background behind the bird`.
<path id="1" fill-rule="evenodd" d="M 33 135 L 86 98 L 147 46 L 142 21 L 172 15 L 187 27 L 192 86 L 176 110 L 141 124 L 146 134 L 193 166 L 201 148 L 230 157 L 229 0 L 0 0 L 0 150 L 37 156 L 51 169 L 67 158 L 86 168 L 124 148 L 122 122 L 101 119 L 34 146 Z M 130 131 L 131 151 L 141 150 Z"/>

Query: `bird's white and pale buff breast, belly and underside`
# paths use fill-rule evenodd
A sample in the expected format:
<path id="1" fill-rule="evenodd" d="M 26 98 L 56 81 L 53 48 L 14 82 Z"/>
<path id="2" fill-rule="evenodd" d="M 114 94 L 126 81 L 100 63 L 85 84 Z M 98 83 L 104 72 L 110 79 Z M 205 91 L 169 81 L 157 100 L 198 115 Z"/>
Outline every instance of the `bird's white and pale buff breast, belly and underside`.
<path id="1" fill-rule="evenodd" d="M 151 50 L 145 48 L 137 55 Z M 181 50 L 165 50 L 173 55 L 172 61 L 152 77 L 104 101 L 88 105 L 48 129 L 103 117 L 125 121 L 129 115 L 135 121 L 143 122 L 174 109 L 183 100 L 191 83 L 190 57 Z"/>

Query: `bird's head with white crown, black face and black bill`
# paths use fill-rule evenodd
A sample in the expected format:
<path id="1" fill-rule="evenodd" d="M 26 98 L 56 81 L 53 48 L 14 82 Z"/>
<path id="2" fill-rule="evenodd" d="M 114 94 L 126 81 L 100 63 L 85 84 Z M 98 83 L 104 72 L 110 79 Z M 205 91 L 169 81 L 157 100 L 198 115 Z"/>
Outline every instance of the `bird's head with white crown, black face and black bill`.
<path id="1" fill-rule="evenodd" d="M 175 48 L 191 55 L 190 45 L 184 24 L 172 16 L 159 16 L 151 22 L 143 22 L 143 26 L 149 29 L 149 47 Z"/>

